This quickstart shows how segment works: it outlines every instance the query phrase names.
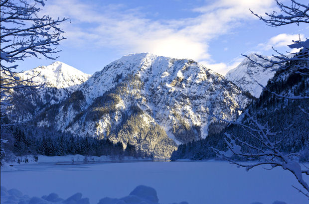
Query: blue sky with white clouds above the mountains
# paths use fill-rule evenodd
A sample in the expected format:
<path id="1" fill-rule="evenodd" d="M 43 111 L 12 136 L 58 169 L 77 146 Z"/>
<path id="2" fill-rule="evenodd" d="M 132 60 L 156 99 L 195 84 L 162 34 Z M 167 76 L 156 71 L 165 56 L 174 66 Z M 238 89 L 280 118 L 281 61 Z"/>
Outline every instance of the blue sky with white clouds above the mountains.
<path id="1" fill-rule="evenodd" d="M 274 0 L 47 0 L 41 14 L 70 18 L 61 24 L 67 39 L 57 61 L 87 74 L 123 55 L 150 52 L 190 58 L 224 75 L 241 53 L 271 55 L 272 46 L 286 51 L 298 34 L 308 37 L 308 25 L 269 27 L 249 8 L 277 9 Z M 28 58 L 18 71 L 52 62 Z"/>

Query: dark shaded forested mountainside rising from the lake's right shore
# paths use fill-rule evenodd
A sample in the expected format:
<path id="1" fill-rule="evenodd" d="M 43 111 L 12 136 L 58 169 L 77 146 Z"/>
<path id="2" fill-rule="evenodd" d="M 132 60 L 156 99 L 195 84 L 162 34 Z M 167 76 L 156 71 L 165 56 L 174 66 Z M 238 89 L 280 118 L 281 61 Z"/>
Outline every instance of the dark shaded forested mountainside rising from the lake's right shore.
<path id="1" fill-rule="evenodd" d="M 292 60 L 277 69 L 274 77 L 268 81 L 259 99 L 255 99 L 246 108 L 260 124 L 273 134 L 269 139 L 276 148 L 285 154 L 299 155 L 300 162 L 309 161 L 309 61 Z M 249 121 L 251 123 L 251 121 Z M 249 125 L 248 117 L 241 115 L 238 123 Z M 226 151 L 225 133 L 237 136 L 240 140 L 254 144 L 260 149 L 265 145 L 252 135 L 255 132 L 244 130 L 241 125 L 230 125 L 219 133 L 207 138 L 178 146 L 172 159 L 212 159 L 216 157 L 212 148 Z M 203 147 L 203 148 L 200 148 Z M 248 151 L 245 148 L 242 151 Z M 251 152 L 250 152 L 251 153 Z"/>

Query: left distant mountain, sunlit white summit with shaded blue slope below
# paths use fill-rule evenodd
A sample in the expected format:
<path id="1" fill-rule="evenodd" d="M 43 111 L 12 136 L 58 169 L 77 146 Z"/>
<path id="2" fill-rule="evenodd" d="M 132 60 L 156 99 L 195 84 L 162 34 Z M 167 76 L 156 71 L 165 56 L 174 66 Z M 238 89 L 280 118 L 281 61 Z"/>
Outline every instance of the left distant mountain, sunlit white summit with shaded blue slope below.
<path id="1" fill-rule="evenodd" d="M 44 87 L 36 90 L 36 94 L 31 95 L 25 95 L 29 89 L 15 90 L 13 92 L 14 106 L 11 107 L 11 113 L 20 115 L 17 118 L 12 118 L 15 122 L 16 120 L 18 122 L 33 120 L 33 117 L 42 109 L 67 99 L 91 76 L 58 61 L 48 66 L 40 66 L 18 73 L 17 75 L 20 80 L 31 79 L 34 82 L 31 85 L 44 84 Z M 34 90 L 30 91 L 30 93 L 35 92 Z"/>

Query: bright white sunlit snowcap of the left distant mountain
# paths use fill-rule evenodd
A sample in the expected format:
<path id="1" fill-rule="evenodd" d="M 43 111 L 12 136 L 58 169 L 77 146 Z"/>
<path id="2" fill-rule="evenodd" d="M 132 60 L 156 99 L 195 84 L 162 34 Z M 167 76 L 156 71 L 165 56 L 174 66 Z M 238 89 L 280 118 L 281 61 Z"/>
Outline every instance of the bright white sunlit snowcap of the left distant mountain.
<path id="1" fill-rule="evenodd" d="M 34 82 L 46 83 L 47 87 L 63 89 L 80 85 L 91 76 L 63 62 L 56 61 L 48 66 L 36 67 L 20 74 L 23 79 L 32 77 Z"/>

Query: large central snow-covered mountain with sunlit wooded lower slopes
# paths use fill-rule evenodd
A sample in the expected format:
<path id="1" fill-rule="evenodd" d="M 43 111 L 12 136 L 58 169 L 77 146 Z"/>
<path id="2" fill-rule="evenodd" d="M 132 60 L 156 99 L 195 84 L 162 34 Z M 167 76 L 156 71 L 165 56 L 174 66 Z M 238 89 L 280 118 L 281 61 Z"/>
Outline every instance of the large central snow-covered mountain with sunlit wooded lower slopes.
<path id="1" fill-rule="evenodd" d="M 212 115 L 235 119 L 247 102 L 233 83 L 193 60 L 131 54 L 43 110 L 37 124 L 167 157 L 175 142 L 206 137 Z"/>

